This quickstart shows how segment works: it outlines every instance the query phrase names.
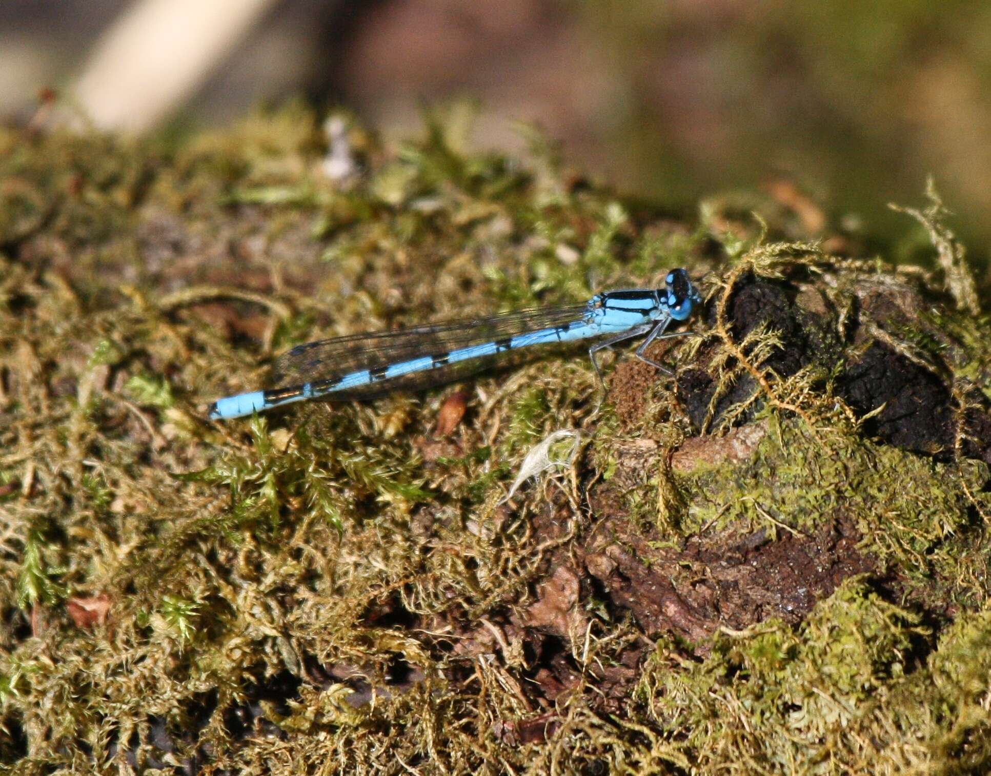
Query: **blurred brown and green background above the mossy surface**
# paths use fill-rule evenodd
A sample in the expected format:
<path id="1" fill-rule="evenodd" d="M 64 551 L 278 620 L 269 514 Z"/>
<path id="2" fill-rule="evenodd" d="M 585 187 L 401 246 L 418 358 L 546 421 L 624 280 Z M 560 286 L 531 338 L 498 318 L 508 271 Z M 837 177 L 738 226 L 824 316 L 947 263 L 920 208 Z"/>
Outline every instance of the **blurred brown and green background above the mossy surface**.
<path id="1" fill-rule="evenodd" d="M 971 255 L 991 247 L 987 0 L 4 0 L 0 118 L 47 88 L 128 132 L 302 95 L 386 138 L 467 96 L 481 147 L 534 122 L 624 194 L 784 179 L 881 237 L 932 173 Z"/>

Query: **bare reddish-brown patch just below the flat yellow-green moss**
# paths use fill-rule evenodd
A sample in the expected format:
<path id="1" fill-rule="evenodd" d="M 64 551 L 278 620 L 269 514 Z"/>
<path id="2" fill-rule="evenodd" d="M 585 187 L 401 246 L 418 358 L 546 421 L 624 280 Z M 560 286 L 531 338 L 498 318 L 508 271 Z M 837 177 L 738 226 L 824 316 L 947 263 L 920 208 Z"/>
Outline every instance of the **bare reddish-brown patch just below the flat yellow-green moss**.
<path id="1" fill-rule="evenodd" d="M 743 629 L 772 616 L 798 622 L 844 579 L 872 572 L 859 538 L 837 520 L 811 535 L 725 532 L 673 548 L 617 516 L 584 548 L 584 562 L 613 610 L 630 611 L 648 635 L 674 633 L 705 654 L 720 626 Z"/>

